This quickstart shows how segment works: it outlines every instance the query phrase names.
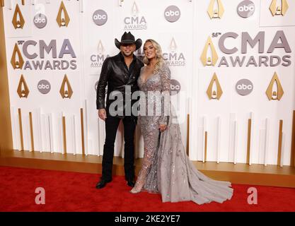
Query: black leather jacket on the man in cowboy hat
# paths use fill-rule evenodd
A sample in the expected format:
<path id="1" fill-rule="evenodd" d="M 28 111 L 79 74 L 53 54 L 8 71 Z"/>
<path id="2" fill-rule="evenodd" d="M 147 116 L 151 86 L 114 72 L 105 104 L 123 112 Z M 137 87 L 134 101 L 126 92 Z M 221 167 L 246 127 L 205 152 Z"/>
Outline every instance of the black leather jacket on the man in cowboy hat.
<path id="1" fill-rule="evenodd" d="M 129 85 L 129 88 L 131 89 L 131 95 L 132 93 L 134 93 L 134 91 L 139 90 L 137 79 L 139 78 L 139 73 L 142 66 L 144 66 L 144 64 L 136 58 L 132 74 L 129 76 L 129 71 L 125 66 L 125 62 L 124 59 L 122 59 L 121 53 L 115 55 L 114 57 L 108 57 L 107 59 L 105 59 L 98 81 L 98 88 L 96 93 L 96 109 L 105 108 L 107 114 L 109 113 L 110 104 L 115 101 L 109 99 L 110 93 L 112 93 L 112 91 L 119 91 L 120 93 L 122 93 L 122 96 L 125 100 L 126 85 Z M 105 105 L 105 88 L 107 85 L 108 94 Z M 125 107 L 124 100 L 123 105 Z M 132 100 L 132 105 L 136 101 L 137 100 Z"/>

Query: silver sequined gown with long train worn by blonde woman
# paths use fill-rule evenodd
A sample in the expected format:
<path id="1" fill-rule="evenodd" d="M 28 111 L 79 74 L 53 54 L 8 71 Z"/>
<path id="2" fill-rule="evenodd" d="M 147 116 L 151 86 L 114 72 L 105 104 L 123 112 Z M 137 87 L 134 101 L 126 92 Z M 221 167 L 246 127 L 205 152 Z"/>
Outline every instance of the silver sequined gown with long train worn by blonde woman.
<path id="1" fill-rule="evenodd" d="M 141 75 L 143 71 L 144 68 L 141 68 Z M 146 95 L 151 91 L 159 91 L 163 95 L 169 93 L 168 66 L 164 64 L 158 73 L 149 76 L 146 81 L 139 76 L 138 85 Z M 153 99 L 149 95 L 145 97 L 146 102 L 148 98 Z M 167 104 L 166 101 L 163 102 L 162 100 L 162 109 Z M 159 103 L 154 99 L 154 107 Z M 148 104 L 146 108 L 147 106 Z M 144 159 L 135 187 L 141 187 L 144 184 L 144 190 L 161 193 L 163 202 L 194 201 L 202 204 L 211 201 L 222 203 L 231 199 L 233 189 L 230 182 L 210 179 L 192 165 L 185 153 L 180 126 L 177 122 L 175 123 L 175 113 L 170 100 L 168 109 L 169 116 L 166 116 L 166 113 L 163 114 L 163 111 L 162 116 L 156 113 L 156 116 L 139 116 L 144 138 Z M 166 131 L 161 134 L 158 129 L 159 124 L 168 125 Z M 160 138 L 159 135 L 161 135 Z"/>

